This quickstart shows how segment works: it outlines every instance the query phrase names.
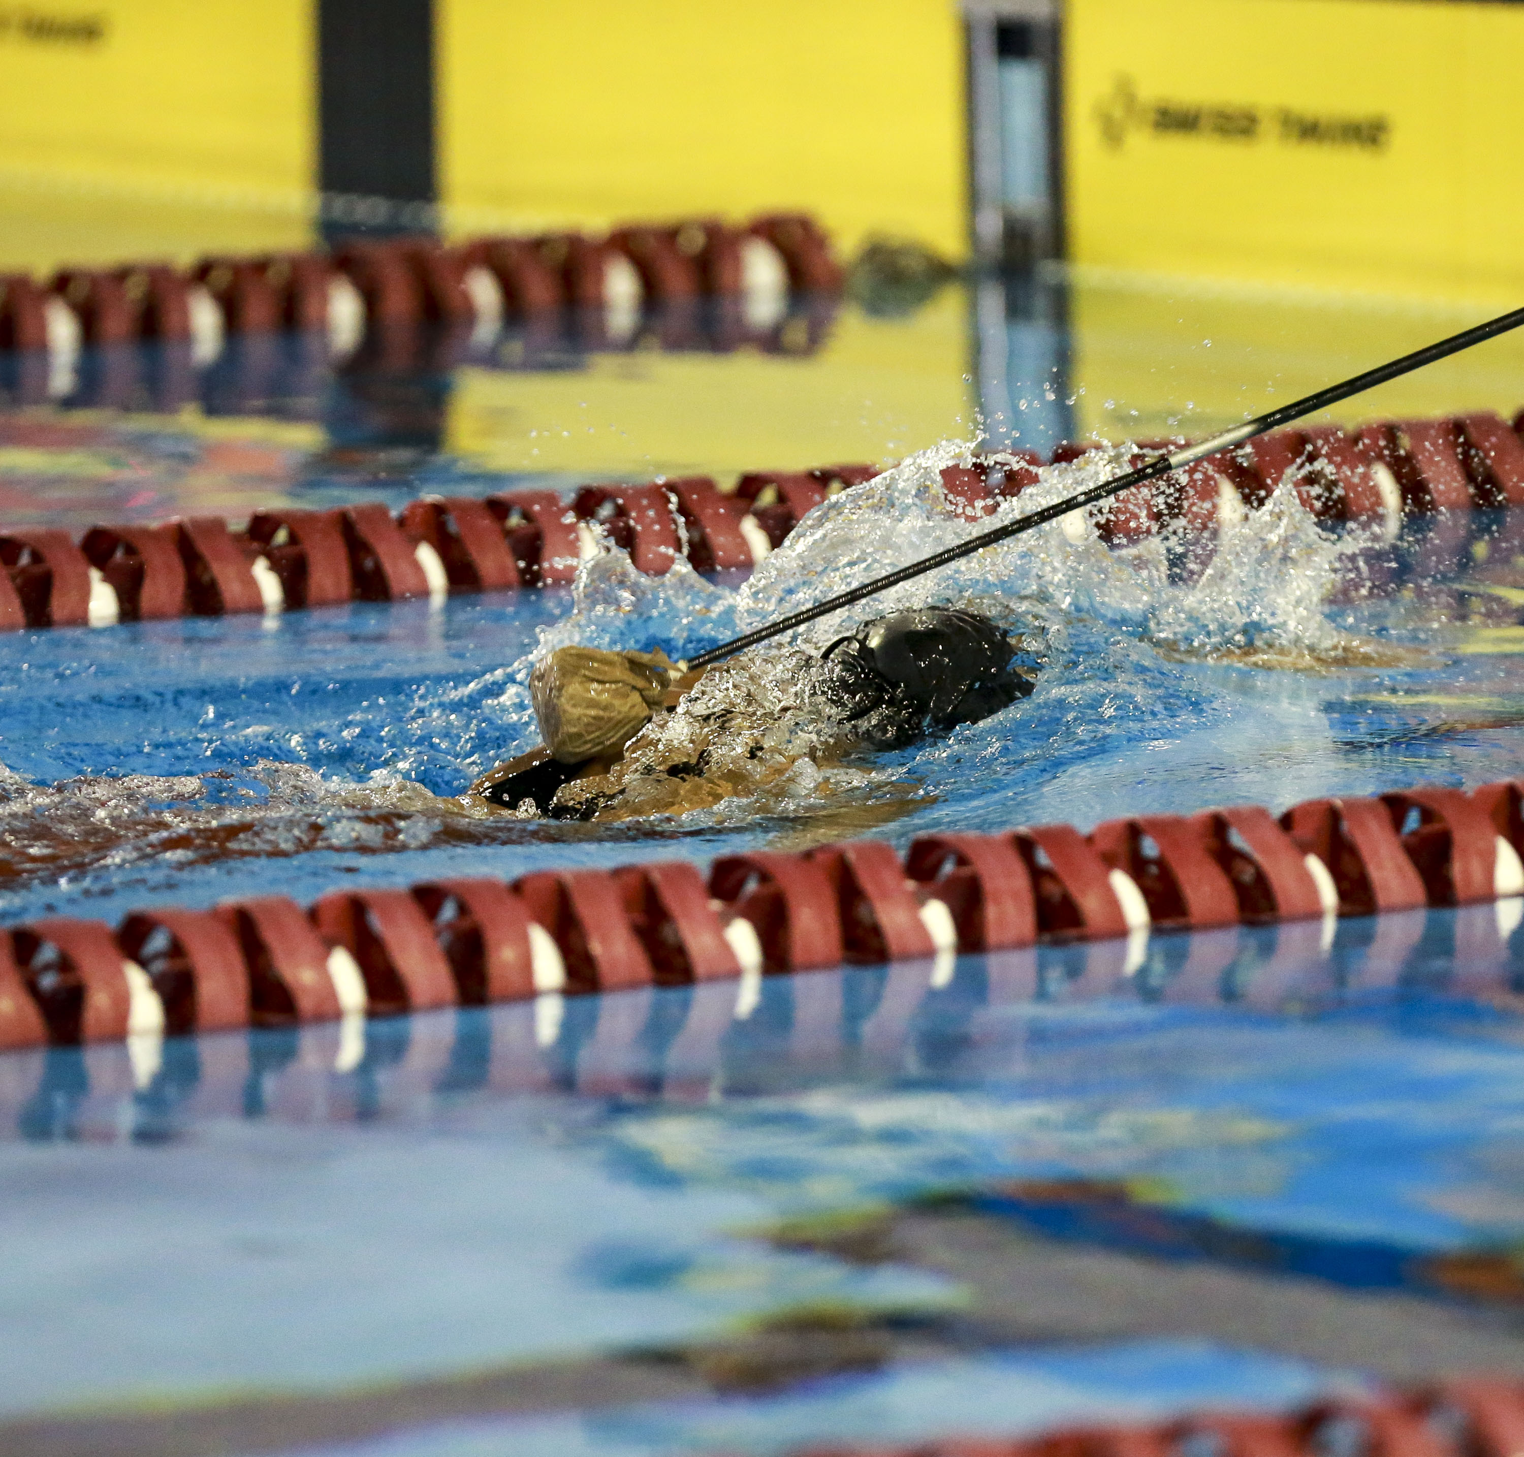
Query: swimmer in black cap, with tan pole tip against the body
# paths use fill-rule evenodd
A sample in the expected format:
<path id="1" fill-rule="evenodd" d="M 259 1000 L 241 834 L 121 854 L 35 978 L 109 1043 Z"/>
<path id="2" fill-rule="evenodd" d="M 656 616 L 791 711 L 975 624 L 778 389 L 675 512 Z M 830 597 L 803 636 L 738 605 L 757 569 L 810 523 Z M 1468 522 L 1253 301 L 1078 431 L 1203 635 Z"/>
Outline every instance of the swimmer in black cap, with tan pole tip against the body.
<path id="1" fill-rule="evenodd" d="M 661 652 L 561 648 L 529 686 L 544 747 L 471 794 L 524 818 L 686 814 L 756 794 L 860 748 L 902 748 L 998 713 L 1033 689 L 991 619 L 893 613 L 823 652 L 742 654 L 684 672 Z"/>

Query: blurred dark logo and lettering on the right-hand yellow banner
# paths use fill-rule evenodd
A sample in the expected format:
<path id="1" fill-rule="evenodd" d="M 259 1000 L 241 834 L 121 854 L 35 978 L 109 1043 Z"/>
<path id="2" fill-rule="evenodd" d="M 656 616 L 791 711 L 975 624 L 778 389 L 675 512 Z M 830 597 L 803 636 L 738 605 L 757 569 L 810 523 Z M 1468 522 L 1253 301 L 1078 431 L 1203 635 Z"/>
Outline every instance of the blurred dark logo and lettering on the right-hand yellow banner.
<path id="1" fill-rule="evenodd" d="M 1100 137 L 1120 151 L 1128 137 L 1199 137 L 1209 142 L 1285 146 L 1337 146 L 1379 152 L 1391 140 L 1391 119 L 1384 114 L 1335 116 L 1294 107 L 1260 107 L 1253 102 L 1175 101 L 1145 98 L 1137 81 L 1119 75 L 1111 91 L 1096 102 Z"/>

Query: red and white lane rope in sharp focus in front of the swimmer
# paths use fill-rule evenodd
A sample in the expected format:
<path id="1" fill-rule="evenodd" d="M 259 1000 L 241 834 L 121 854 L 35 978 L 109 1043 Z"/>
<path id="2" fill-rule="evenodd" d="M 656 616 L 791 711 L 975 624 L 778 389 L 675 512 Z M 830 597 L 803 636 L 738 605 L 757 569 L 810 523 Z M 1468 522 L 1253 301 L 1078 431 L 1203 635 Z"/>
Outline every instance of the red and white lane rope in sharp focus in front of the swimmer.
<path id="1" fill-rule="evenodd" d="M 904 858 L 870 840 L 727 855 L 707 876 L 655 861 L 543 870 L 514 884 L 483 876 L 334 892 L 309 911 L 282 896 L 143 910 L 116 931 L 52 917 L 0 930 L 0 1047 L 389 1017 L 844 962 L 942 965 L 956 953 L 1033 943 L 1125 942 L 1113 960 L 1137 966 L 1155 933 L 1233 925 L 1285 927 L 1277 959 L 1289 962 L 1269 972 L 1279 985 L 1305 969 L 1297 948 L 1318 942 L 1298 939 L 1297 922 L 1321 921 L 1326 942 L 1338 916 L 1524 898 L 1521 857 L 1524 780 L 1515 779 L 1471 793 L 1308 800 L 1279 821 L 1236 806 L 1119 818 L 1088 835 L 1067 825 L 925 835 Z M 1504 956 L 1515 924 L 1500 910 L 1487 946 L 1474 948 L 1475 975 Z M 1411 917 L 1378 921 L 1372 966 L 1401 965 L 1419 933 Z M 1164 995 L 1209 995 L 1233 954 L 1228 942 L 1192 943 Z M 1079 991 L 1114 985 L 1100 975 Z M 1250 1001 L 1273 1006 L 1273 988 L 1251 988 Z"/>

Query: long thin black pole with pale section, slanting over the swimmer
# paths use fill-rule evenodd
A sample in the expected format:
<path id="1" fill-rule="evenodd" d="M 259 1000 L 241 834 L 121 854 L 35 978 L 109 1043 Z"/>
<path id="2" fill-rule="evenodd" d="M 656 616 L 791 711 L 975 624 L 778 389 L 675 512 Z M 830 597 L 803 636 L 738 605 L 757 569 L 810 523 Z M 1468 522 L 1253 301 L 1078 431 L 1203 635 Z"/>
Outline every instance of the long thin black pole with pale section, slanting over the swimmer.
<path id="1" fill-rule="evenodd" d="M 1137 469 L 1128 471 L 1125 476 L 1105 480 L 1099 486 L 1091 486 L 1088 491 L 1079 491 L 1062 501 L 1055 501 L 1052 506 L 1033 511 L 1030 515 L 1018 517 L 1015 521 L 1007 521 L 1004 526 L 995 526 L 988 532 L 981 532 L 978 536 L 969 536 L 968 541 L 960 541 L 957 546 L 943 547 L 940 552 L 933 552 L 931 556 L 910 562 L 910 565 L 899 567 L 884 576 L 873 578 L 870 582 L 863 582 L 861 587 L 852 587 L 847 591 L 837 593 L 837 596 L 826 597 L 824 602 L 817 602 L 814 607 L 802 607 L 797 613 L 788 613 L 776 622 L 770 622 L 760 628 L 753 628 L 750 632 L 742 632 L 741 637 L 733 642 L 721 643 L 721 646 L 710 648 L 707 652 L 700 652 L 696 657 L 687 660 L 687 666 L 709 668 L 710 663 L 718 663 L 722 658 L 742 652 L 747 648 L 754 648 L 757 643 L 765 643 L 770 637 L 792 632 L 794 628 L 802 628 L 806 622 L 814 622 L 817 617 L 826 617 L 831 613 L 838 613 L 844 607 L 863 602 L 866 597 L 872 597 L 879 591 L 887 591 L 890 587 L 898 587 L 901 582 L 910 582 L 917 576 L 924 576 L 927 572 L 936 572 L 937 567 L 945 567 L 948 562 L 972 556 L 975 552 L 983 552 L 988 546 L 1009 541 L 1012 536 L 1020 536 L 1023 532 L 1030 532 L 1038 526 L 1045 526 L 1049 521 L 1067 517 L 1071 511 L 1082 511 L 1085 506 L 1094 506 L 1097 501 L 1103 501 L 1108 497 L 1116 495 L 1119 491 L 1126 491 L 1129 486 L 1138 486 L 1146 480 L 1157 480 L 1160 476 L 1178 471 L 1181 466 L 1190 465 L 1195 460 L 1204 460 L 1207 456 L 1231 450 L 1234 445 L 1253 440 L 1257 434 L 1265 434 L 1265 431 L 1274 430 L 1279 425 L 1286 425 L 1294 419 L 1301 419 L 1305 415 L 1312 415 L 1317 410 L 1327 408 L 1327 405 L 1335 405 L 1341 399 L 1349 399 L 1350 395 L 1359 395 L 1362 390 L 1369 390 L 1378 384 L 1385 384 L 1388 379 L 1396 379 L 1401 375 L 1411 373 L 1414 369 L 1422 369 L 1425 364 L 1433 364 L 1436 360 L 1443 360 L 1451 354 L 1460 354 L 1462 349 L 1469 349 L 1472 344 L 1480 344 L 1483 340 L 1495 338 L 1498 334 L 1507 334 L 1509 329 L 1516 329 L 1519 325 L 1524 325 L 1524 308 L 1516 308 L 1510 314 L 1501 314 L 1497 319 L 1489 319 L 1486 323 L 1462 329 L 1460 334 L 1442 338 L 1436 344 L 1416 349 L 1413 354 L 1405 354 L 1398 360 L 1388 361 L 1387 364 L 1378 364 L 1375 369 L 1367 369 L 1340 384 L 1330 384 L 1326 389 L 1306 395 L 1301 399 L 1295 399 L 1288 405 L 1269 410 L 1265 415 L 1256 415 L 1254 419 L 1245 421 L 1242 425 L 1234 425 L 1231 430 L 1224 430 L 1210 440 L 1201 440 L 1196 445 L 1184 445 L 1170 454 L 1155 456 L 1152 460 L 1140 465 Z"/>

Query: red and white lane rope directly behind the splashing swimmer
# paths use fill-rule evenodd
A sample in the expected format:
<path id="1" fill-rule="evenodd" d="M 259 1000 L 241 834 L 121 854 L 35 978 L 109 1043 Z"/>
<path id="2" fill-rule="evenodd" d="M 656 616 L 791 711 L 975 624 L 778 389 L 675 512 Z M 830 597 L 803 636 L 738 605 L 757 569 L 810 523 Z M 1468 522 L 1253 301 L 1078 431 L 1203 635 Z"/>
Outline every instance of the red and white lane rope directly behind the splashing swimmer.
<path id="1" fill-rule="evenodd" d="M 328 262 L 317 262 L 328 279 Z M 1070 442 L 1053 460 L 1097 448 Z M 1010 460 L 945 466 L 943 495 L 954 512 L 985 517 L 1032 485 L 1039 463 L 1036 453 L 1017 451 Z M 1163 532 L 1170 578 L 1192 582 L 1216 553 L 1224 524 L 1262 506 L 1288 472 L 1315 517 L 1384 523 L 1388 541 L 1404 514 L 1430 514 L 1428 533 L 1414 544 L 1414 570 L 1440 575 L 1469 546 L 1471 509 L 1524 504 L 1524 440 L 1500 416 L 1478 413 L 1385 422 L 1356 434 L 1338 427 L 1276 431 L 1125 491 L 1093 523 L 1113 547 Z M 0 631 L 565 584 L 599 538 L 626 549 L 649 575 L 671 570 L 680 555 L 701 572 L 748 570 L 809 511 L 875 474 L 872 465 L 750 471 L 732 492 L 707 476 L 687 476 L 590 485 L 570 501 L 547 489 L 483 500 L 430 495 L 396 517 L 375 501 L 274 508 L 256 511 L 238 530 L 216 517 L 94 526 L 78 547 L 56 527 L 0 529 Z M 1358 555 L 1370 582 L 1396 570 L 1379 546 Z"/>

